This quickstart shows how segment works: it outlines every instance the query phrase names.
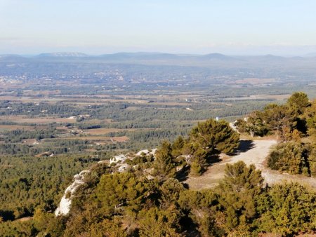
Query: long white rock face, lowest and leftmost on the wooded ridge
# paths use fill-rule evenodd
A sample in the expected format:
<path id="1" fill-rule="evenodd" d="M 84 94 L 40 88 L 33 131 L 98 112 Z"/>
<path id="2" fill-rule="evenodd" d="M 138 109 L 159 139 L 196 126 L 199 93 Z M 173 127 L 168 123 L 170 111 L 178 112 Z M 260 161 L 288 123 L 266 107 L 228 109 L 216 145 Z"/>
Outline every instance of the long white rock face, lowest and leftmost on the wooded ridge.
<path id="1" fill-rule="evenodd" d="M 70 205 L 72 204 L 72 195 L 81 184 L 84 184 L 84 175 L 88 172 L 90 170 L 82 170 L 79 174 L 74 175 L 74 182 L 65 190 L 65 194 L 62 196 L 59 206 L 55 210 L 55 216 L 67 215 L 69 213 Z"/>

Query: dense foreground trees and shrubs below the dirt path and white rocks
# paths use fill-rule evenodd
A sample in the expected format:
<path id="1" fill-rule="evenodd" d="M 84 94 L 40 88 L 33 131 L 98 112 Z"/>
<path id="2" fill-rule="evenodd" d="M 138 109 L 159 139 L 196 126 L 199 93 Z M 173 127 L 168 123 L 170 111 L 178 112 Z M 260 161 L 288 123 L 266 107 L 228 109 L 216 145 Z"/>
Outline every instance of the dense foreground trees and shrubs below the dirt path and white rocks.
<path id="1" fill-rule="evenodd" d="M 56 218 L 37 208 L 27 222 L 0 224 L 0 233 L 293 236 L 316 231 L 315 191 L 296 183 L 264 187 L 261 172 L 242 162 L 227 165 L 225 173 L 216 189 L 192 191 L 174 178 L 147 180 L 135 172 L 105 172 L 97 184 L 78 192 L 69 216 Z"/>

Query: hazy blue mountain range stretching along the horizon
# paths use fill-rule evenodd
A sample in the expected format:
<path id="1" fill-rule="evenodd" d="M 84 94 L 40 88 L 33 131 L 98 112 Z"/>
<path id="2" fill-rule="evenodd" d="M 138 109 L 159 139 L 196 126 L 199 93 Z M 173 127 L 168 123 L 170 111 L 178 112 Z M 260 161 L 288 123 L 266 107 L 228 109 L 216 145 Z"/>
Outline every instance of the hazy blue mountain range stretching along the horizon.
<path id="1" fill-rule="evenodd" d="M 305 57 L 281 57 L 277 55 L 233 56 L 220 53 L 206 55 L 171 54 L 171 53 L 113 53 L 87 55 L 77 52 L 41 53 L 34 56 L 0 55 L 0 62 L 103 62 L 138 65 L 178 65 L 193 67 L 254 67 L 284 66 L 301 67 L 305 62 L 315 65 L 316 54 Z"/>

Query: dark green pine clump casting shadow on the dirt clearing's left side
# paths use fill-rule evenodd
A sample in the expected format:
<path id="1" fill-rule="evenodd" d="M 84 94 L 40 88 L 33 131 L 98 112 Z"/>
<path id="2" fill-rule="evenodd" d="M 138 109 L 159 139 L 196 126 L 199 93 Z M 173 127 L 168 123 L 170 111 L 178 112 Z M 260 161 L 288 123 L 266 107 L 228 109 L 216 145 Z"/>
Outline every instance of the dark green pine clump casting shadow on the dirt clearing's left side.
<path id="1" fill-rule="evenodd" d="M 209 119 L 199 122 L 185 138 L 160 145 L 153 165 L 159 180 L 174 177 L 177 165 L 190 165 L 192 175 L 202 175 L 214 156 L 231 153 L 239 145 L 239 135 L 225 121 Z"/>

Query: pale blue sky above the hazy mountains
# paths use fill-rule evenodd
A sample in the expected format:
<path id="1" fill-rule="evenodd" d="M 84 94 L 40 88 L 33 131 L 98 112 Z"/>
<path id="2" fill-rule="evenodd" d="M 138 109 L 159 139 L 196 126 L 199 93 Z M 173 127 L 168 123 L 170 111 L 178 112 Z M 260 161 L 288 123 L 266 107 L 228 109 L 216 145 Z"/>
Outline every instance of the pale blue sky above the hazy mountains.
<path id="1" fill-rule="evenodd" d="M 315 0 L 0 0 L 0 54 L 316 53 Z"/>

